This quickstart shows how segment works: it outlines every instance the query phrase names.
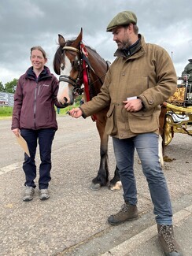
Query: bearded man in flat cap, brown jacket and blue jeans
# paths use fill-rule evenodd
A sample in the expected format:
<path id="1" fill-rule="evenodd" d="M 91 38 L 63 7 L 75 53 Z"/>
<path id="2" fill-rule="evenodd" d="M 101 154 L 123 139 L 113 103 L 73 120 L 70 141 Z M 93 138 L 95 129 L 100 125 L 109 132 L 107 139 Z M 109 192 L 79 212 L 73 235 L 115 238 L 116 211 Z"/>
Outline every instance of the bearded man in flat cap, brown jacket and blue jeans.
<path id="1" fill-rule="evenodd" d="M 106 74 L 101 92 L 90 102 L 72 109 L 72 117 L 88 117 L 109 106 L 105 131 L 113 137 L 116 164 L 124 189 L 124 205 L 109 216 L 110 224 L 138 218 L 134 176 L 134 151 L 150 188 L 158 237 L 165 255 L 182 255 L 172 228 L 172 205 L 158 157 L 160 105 L 176 89 L 172 60 L 161 46 L 145 43 L 138 34 L 135 13 L 124 11 L 111 20 L 118 49 Z"/>

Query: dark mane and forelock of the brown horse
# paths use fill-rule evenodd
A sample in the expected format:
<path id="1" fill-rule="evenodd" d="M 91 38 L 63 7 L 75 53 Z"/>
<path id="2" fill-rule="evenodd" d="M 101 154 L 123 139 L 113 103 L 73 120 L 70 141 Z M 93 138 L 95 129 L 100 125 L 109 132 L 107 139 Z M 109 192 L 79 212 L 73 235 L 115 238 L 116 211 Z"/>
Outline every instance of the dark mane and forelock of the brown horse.
<path id="1" fill-rule="evenodd" d="M 74 39 L 74 40 L 68 40 L 68 41 L 66 41 L 65 46 L 71 46 L 74 41 L 75 41 L 75 39 Z M 87 46 L 87 45 L 86 45 L 86 48 L 87 48 L 88 54 L 91 53 L 91 54 L 97 55 L 97 57 L 98 57 L 101 61 L 105 61 L 105 60 L 97 53 L 96 50 L 94 50 L 93 48 L 91 48 L 90 46 Z M 54 61 L 53 61 L 54 72 L 55 72 L 57 75 L 60 75 L 60 66 L 61 66 L 62 54 L 63 54 L 62 47 L 59 46 L 59 47 L 57 48 L 56 53 L 54 54 Z"/>

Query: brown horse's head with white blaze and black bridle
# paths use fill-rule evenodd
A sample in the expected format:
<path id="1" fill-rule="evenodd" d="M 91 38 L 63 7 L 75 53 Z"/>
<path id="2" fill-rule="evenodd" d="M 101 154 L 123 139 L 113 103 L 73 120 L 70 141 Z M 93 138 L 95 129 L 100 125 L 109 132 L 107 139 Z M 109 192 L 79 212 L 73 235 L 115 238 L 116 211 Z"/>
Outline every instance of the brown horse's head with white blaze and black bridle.
<path id="1" fill-rule="evenodd" d="M 81 41 L 82 29 L 73 41 L 65 41 L 62 35 L 58 35 L 59 47 L 54 55 L 54 72 L 60 75 L 57 100 L 65 106 L 72 105 L 74 98 L 79 95 L 81 90 L 79 51 Z"/>

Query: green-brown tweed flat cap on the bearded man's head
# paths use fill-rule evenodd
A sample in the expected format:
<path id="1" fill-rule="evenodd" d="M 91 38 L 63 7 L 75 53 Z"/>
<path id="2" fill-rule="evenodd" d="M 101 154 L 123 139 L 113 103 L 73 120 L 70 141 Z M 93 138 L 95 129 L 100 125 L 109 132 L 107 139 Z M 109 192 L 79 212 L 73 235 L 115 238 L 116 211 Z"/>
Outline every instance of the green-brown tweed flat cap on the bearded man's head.
<path id="1" fill-rule="evenodd" d="M 116 28 L 117 26 L 124 26 L 131 23 L 137 24 L 137 17 L 135 13 L 132 13 L 131 11 L 118 13 L 107 26 L 107 32 L 112 32 L 113 28 Z"/>

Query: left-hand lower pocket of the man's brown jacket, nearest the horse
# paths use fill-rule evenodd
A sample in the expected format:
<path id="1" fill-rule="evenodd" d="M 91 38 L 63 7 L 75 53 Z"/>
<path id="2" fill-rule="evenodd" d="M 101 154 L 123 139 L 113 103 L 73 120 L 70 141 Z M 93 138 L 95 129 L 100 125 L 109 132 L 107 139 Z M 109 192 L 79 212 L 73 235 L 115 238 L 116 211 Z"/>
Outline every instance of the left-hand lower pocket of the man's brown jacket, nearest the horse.
<path id="1" fill-rule="evenodd" d="M 105 126 L 105 132 L 107 135 L 116 135 L 117 133 L 115 112 L 115 106 L 111 105 L 107 113 L 107 121 Z"/>

